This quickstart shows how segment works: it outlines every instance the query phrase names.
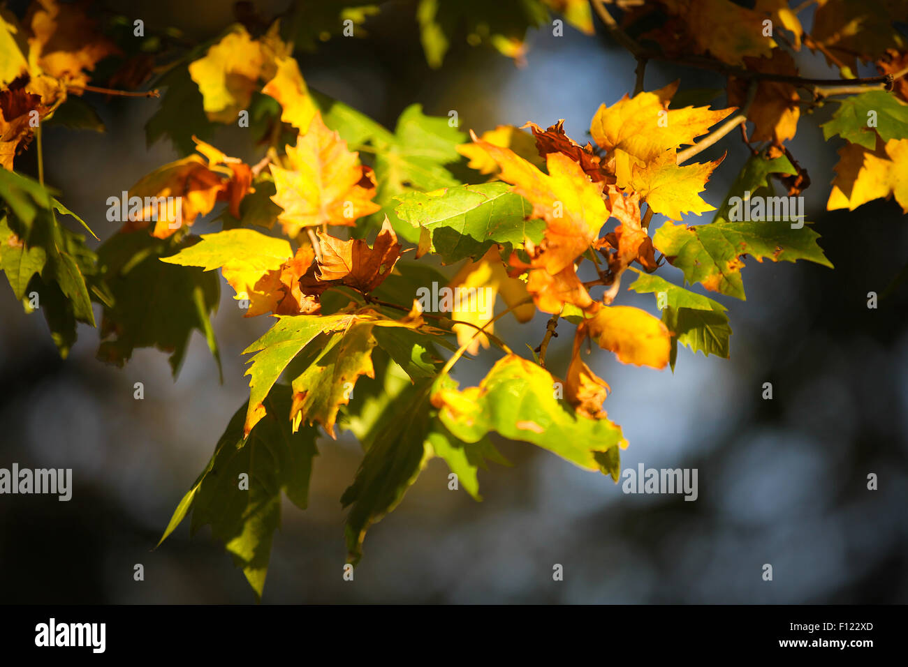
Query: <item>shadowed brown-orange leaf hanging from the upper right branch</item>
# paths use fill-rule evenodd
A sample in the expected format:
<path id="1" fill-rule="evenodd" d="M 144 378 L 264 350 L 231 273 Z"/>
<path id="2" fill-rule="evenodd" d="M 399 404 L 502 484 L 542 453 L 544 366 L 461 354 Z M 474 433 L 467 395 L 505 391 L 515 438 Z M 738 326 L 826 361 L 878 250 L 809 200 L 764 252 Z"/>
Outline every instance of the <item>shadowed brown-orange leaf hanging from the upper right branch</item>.
<path id="1" fill-rule="evenodd" d="M 769 58 L 745 58 L 748 70 L 766 74 L 797 76 L 795 61 L 788 52 L 773 49 Z M 748 81 L 731 77 L 728 80 L 728 102 L 742 105 L 747 97 Z M 797 131 L 801 115 L 798 106 L 800 97 L 791 83 L 760 80 L 756 85 L 754 102 L 747 112 L 747 120 L 754 123 L 754 131 L 748 137 L 752 142 L 775 142 L 792 139 Z"/>

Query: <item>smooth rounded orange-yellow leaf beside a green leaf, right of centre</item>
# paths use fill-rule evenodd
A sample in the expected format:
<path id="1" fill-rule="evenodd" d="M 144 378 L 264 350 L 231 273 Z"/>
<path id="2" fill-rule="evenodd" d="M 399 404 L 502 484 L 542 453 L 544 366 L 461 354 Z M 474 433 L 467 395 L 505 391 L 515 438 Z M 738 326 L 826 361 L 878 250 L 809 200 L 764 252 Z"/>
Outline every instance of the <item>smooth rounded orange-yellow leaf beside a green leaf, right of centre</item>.
<path id="1" fill-rule="evenodd" d="M 671 334 L 646 310 L 607 306 L 585 319 L 578 329 L 588 331 L 600 348 L 614 352 L 622 363 L 652 368 L 665 368 L 668 364 Z"/>

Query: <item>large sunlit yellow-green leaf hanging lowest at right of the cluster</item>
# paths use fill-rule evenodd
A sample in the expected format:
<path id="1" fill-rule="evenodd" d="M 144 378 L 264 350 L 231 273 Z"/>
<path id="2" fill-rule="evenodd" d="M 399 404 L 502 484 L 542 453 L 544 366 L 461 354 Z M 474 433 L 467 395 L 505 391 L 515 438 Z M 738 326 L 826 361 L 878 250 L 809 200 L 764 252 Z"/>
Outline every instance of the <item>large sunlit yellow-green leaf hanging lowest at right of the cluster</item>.
<path id="1" fill-rule="evenodd" d="M 495 431 L 617 481 L 617 447 L 625 444 L 621 428 L 608 419 L 577 415 L 565 400 L 555 397 L 557 381 L 545 368 L 508 355 L 498 360 L 479 387 L 458 391 L 439 381 L 433 405 L 443 406 L 439 419 L 464 442 L 478 442 Z"/>

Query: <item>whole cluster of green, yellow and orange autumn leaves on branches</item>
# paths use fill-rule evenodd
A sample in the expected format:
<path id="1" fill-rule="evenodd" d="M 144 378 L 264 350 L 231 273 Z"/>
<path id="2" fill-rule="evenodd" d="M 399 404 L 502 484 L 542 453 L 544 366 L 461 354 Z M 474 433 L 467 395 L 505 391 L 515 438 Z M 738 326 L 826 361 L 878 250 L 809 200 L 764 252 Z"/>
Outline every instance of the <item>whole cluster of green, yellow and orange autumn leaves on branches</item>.
<path id="1" fill-rule="evenodd" d="M 94 301 L 103 314 L 99 358 L 123 365 L 135 348 L 157 347 L 171 353 L 175 374 L 199 329 L 220 365 L 211 324 L 219 269 L 245 317 L 274 318 L 243 352 L 250 355 L 248 402 L 162 541 L 192 513 L 193 531 L 212 525 L 261 594 L 281 493 L 306 505 L 316 441 L 321 432 L 336 437 L 336 427 L 365 451 L 341 496 L 352 563 L 368 527 L 400 502 L 429 459 L 443 459 L 479 498 L 479 467 L 507 463 L 492 434 L 617 480 L 627 441 L 602 409 L 609 387 L 583 359 L 587 340 L 623 363 L 651 368 L 674 368 L 678 343 L 727 358 L 725 306 L 688 284 L 744 299 L 746 256 L 831 266 L 809 224 L 731 215 L 734 197 L 772 196 L 776 181 L 795 195 L 809 183 L 784 142 L 795 135 L 802 103 L 837 93 L 800 97 L 799 90 L 817 86 L 795 68 L 791 52 L 803 44 L 839 67 L 845 83 L 855 58 L 875 61 L 889 75 L 879 85 L 856 83 L 868 90 L 846 97 L 824 124 L 827 139 L 846 142 L 828 208 L 894 196 L 908 210 L 908 56 L 893 15 L 873 14 L 875 5 L 896 3 L 821 0 L 812 33 L 781 0 L 757 0 L 753 8 L 730 0 L 617 5 L 627 5 L 620 24 L 599 0 L 420 0 L 415 11 L 429 65 L 439 66 L 464 27 L 470 43 L 488 42 L 520 59 L 528 26 L 547 22 L 548 9 L 592 33 L 592 6 L 641 61 L 693 59 L 728 74 L 730 106 L 685 103 L 692 95 L 678 83 L 646 92 L 641 65 L 637 91 L 602 104 L 591 119 L 592 142 L 571 139 L 563 121 L 468 137 L 418 104 L 400 114 L 392 132 L 311 91 L 294 57 L 293 44 L 312 48 L 378 6 L 326 2 L 316 11 L 301 3 L 273 21 L 244 15 L 176 55 L 166 40 L 136 54 L 97 32 L 81 7 L 54 0 L 35 3 L 21 22 L 3 15 L 0 262 L 17 299 L 28 304 L 30 294 L 40 296 L 61 353 L 74 341 L 76 321 L 94 326 Z M 767 20 L 788 36 L 765 34 Z M 78 30 L 71 34 L 72 26 Z M 95 253 L 59 223 L 57 214 L 82 221 L 55 199 L 41 170 L 35 181 L 14 172 L 13 161 L 35 136 L 40 152 L 41 124 L 92 91 L 96 64 L 120 56 L 110 81 L 123 87 L 158 72 L 153 84 L 165 93 L 147 138 L 166 136 L 185 157 L 133 185 L 123 229 Z M 878 123 L 868 126 L 870 111 Z M 29 123 L 35 115 L 39 123 Z M 66 118 L 77 127 L 99 123 L 92 114 Z M 238 132 L 267 146 L 258 162 L 199 138 L 238 119 L 249 128 Z M 724 156 L 686 162 L 745 119 L 752 156 L 716 210 L 701 193 Z M 469 171 L 453 169 L 464 162 L 472 182 L 455 176 Z M 156 203 L 167 198 L 178 198 L 179 207 Z M 708 211 L 716 211 L 711 222 L 690 224 Z M 222 231 L 193 235 L 193 223 L 215 212 Z M 650 233 L 656 213 L 666 221 Z M 459 267 L 451 277 L 439 262 Z M 681 271 L 682 284 L 656 275 L 666 262 Z M 614 303 L 627 270 L 636 276 L 630 289 L 656 297 L 660 318 Z M 595 278 L 581 280 L 584 272 Z M 504 308 L 489 317 L 468 301 L 427 312 L 418 295 L 433 285 L 486 289 Z M 528 322 L 537 312 L 551 316 L 548 327 L 531 358 L 523 358 L 494 324 L 508 314 Z M 562 322 L 575 335 L 558 376 L 546 353 Z M 459 387 L 454 365 L 491 346 L 501 355 L 479 385 Z M 439 348 L 450 351 L 447 359 Z M 243 473 L 248 489 L 237 485 Z"/>

